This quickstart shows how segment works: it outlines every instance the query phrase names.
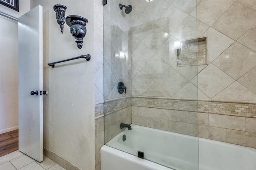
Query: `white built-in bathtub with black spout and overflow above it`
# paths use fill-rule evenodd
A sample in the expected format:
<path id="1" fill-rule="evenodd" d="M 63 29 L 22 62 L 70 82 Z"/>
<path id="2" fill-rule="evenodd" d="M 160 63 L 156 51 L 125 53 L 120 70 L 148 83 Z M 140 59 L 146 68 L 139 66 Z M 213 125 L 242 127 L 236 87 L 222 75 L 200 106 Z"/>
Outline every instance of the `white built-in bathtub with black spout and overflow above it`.
<path id="1" fill-rule="evenodd" d="M 254 148 L 131 126 L 102 146 L 101 170 L 198 170 L 198 142 L 200 170 L 256 170 Z M 144 159 L 137 157 L 138 151 Z"/>

